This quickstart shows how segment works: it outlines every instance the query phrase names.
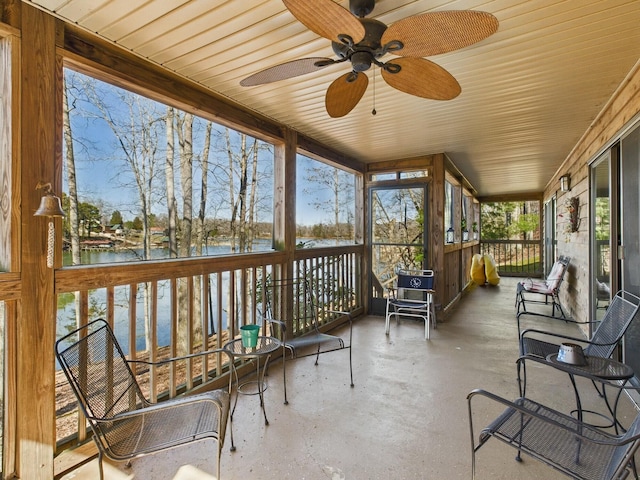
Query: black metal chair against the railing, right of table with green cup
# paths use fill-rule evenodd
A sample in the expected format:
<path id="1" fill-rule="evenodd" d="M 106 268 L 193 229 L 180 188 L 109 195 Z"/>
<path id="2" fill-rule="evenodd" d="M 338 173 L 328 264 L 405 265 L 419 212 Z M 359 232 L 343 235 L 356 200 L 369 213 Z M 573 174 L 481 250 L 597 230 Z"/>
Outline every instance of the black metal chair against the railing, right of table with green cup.
<path id="1" fill-rule="evenodd" d="M 287 399 L 287 352 L 291 358 L 315 355 L 318 365 L 320 354 L 337 350 L 349 350 L 349 375 L 353 387 L 353 362 L 351 348 L 353 340 L 353 322 L 350 312 L 332 308 L 334 302 L 331 293 L 322 302 L 325 315 L 344 315 L 349 322 L 349 341 L 337 335 L 323 331 L 318 319 L 318 293 L 305 278 L 269 279 L 264 285 L 264 320 L 271 326 L 271 333 L 282 342 L 282 372 L 284 384 L 284 403 Z M 264 331 L 264 330 L 263 330 Z"/>

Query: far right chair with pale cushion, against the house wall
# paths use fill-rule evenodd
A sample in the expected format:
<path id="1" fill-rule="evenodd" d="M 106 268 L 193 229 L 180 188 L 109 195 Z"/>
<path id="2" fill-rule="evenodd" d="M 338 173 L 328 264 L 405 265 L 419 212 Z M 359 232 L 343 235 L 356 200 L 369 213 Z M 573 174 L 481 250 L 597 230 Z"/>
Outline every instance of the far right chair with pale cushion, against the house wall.
<path id="1" fill-rule="evenodd" d="M 560 256 L 553 264 L 551 272 L 549 272 L 546 279 L 534 280 L 528 278 L 518 283 L 516 287 L 516 316 L 518 317 L 518 321 L 521 315 L 538 315 L 562 320 L 568 319 L 562 309 L 558 295 L 570 261 L 570 257 Z M 531 295 L 533 295 L 533 297 Z M 548 305 L 549 301 L 551 301 L 550 315 L 527 310 L 527 303 Z"/>

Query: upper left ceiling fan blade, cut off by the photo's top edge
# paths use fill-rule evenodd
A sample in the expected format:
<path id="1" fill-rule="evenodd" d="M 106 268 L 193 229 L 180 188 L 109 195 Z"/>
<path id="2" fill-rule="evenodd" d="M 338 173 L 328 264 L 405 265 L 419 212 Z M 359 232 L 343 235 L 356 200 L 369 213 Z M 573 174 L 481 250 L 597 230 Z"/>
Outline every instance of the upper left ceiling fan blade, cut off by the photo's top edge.
<path id="1" fill-rule="evenodd" d="M 349 10 L 333 0 L 282 0 L 285 7 L 309 30 L 333 42 L 349 35 L 354 43 L 364 38 L 364 27 Z"/>

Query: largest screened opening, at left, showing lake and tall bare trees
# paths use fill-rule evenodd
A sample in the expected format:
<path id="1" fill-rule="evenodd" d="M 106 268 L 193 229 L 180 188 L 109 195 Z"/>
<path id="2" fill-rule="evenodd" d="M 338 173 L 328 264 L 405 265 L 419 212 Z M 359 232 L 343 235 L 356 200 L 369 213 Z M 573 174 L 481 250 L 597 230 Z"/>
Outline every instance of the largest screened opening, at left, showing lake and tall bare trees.
<path id="1" fill-rule="evenodd" d="M 64 264 L 270 250 L 273 145 L 65 70 Z"/>

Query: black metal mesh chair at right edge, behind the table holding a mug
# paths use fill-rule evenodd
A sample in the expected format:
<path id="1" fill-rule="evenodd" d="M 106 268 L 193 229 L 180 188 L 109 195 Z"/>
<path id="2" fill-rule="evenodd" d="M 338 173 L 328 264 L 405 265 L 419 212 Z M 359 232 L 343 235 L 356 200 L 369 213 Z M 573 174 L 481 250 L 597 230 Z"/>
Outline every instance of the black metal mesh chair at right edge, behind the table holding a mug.
<path id="1" fill-rule="evenodd" d="M 529 328 L 520 335 L 520 359 L 518 361 L 518 385 L 520 395 L 526 392 L 527 357 L 546 358 L 558 353 L 562 343 L 574 343 L 584 346 L 584 354 L 591 357 L 609 358 L 620 343 L 629 325 L 638 315 L 640 298 L 620 291 L 614 295 L 593 336 L 584 338 L 572 337 L 561 333 Z M 553 366 L 549 362 L 549 365 Z"/>

